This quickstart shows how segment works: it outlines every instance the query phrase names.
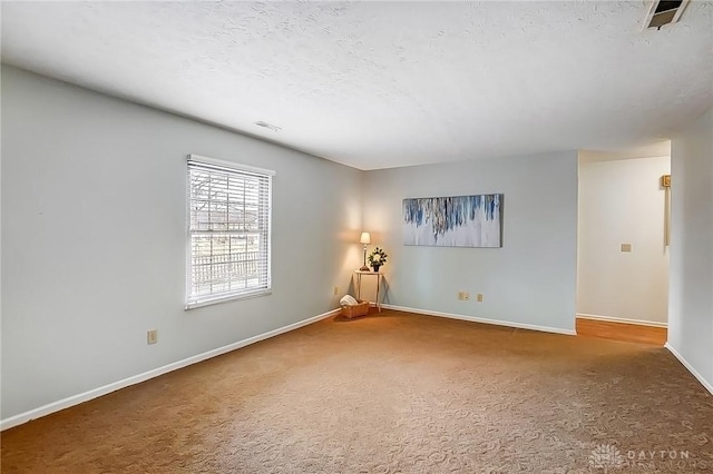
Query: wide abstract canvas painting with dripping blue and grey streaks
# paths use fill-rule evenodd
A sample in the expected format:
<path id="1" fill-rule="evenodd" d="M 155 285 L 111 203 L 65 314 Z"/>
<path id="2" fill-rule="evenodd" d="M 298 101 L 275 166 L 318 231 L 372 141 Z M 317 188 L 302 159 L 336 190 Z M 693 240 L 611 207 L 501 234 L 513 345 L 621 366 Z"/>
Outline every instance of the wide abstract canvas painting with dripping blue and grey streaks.
<path id="1" fill-rule="evenodd" d="M 502 195 L 403 199 L 403 244 L 502 247 Z"/>

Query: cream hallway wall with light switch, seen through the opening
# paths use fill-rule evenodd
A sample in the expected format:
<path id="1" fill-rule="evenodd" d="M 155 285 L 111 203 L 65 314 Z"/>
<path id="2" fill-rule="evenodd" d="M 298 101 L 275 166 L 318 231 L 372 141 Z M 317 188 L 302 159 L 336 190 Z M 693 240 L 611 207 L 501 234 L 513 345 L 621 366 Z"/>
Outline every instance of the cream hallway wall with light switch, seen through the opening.
<path id="1" fill-rule="evenodd" d="M 666 323 L 668 251 L 664 244 L 670 157 L 579 162 L 577 313 Z M 621 251 L 632 244 L 631 253 Z"/>

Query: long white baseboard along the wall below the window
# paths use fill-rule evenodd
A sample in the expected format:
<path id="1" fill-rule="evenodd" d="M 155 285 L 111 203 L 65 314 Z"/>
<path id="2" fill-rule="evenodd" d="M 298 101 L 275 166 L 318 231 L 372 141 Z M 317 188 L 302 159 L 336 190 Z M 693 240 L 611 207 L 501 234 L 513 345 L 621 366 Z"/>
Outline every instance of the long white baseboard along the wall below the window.
<path id="1" fill-rule="evenodd" d="M 261 340 L 268 339 L 271 337 L 279 336 L 284 333 L 289 333 L 291 330 L 297 329 L 300 327 L 306 326 L 318 320 L 325 319 L 330 316 L 335 316 L 340 314 L 340 312 L 341 309 L 332 309 L 331 312 L 322 313 L 321 315 L 313 316 L 311 318 L 307 318 L 284 327 L 280 327 L 277 329 L 268 330 L 267 333 L 258 334 L 257 336 L 248 337 L 247 339 L 238 340 L 237 343 L 228 344 L 227 346 L 218 347 L 216 349 L 208 350 L 203 354 L 184 358 L 183 361 L 174 362 L 173 364 L 164 365 L 163 367 L 144 372 L 143 374 L 134 375 L 133 377 L 124 378 L 123 381 L 114 382 L 111 384 L 104 385 L 101 387 L 94 388 L 85 393 L 80 393 L 77 395 L 69 396 L 67 398 L 59 399 L 57 402 L 49 403 L 38 408 L 30 409 L 29 412 L 20 413 L 19 415 L 14 415 L 9 418 L 0 421 L 0 431 L 21 425 L 22 423 L 27 423 L 31 419 L 36 419 L 41 416 L 49 415 L 50 413 L 59 412 L 60 409 L 69 408 L 70 406 L 79 405 L 80 403 L 88 402 L 92 398 L 97 398 L 102 395 L 107 395 L 120 388 L 125 388 L 130 385 L 135 385 L 145 381 L 148 381 L 149 378 L 158 377 L 159 375 L 164 375 L 169 372 L 177 371 L 179 368 L 187 367 L 193 364 L 197 364 L 208 358 L 219 356 L 222 354 L 226 354 L 235 349 L 240 349 L 241 347 L 245 347 L 251 344 L 255 344 Z"/>

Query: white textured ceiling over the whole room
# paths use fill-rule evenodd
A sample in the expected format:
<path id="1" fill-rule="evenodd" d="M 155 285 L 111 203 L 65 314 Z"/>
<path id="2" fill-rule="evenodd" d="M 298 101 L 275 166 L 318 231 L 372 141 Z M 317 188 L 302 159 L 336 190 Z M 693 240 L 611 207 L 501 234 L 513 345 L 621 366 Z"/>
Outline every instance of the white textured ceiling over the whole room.
<path id="1" fill-rule="evenodd" d="M 2 61 L 360 169 L 621 150 L 713 105 L 713 2 L 647 8 L 3 1 Z"/>

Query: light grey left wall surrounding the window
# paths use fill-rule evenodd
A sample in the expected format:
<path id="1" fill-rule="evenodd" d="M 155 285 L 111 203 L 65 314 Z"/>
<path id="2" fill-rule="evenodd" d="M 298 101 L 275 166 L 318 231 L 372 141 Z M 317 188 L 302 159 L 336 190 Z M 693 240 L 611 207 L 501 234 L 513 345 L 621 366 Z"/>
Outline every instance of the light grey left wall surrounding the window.
<path id="1" fill-rule="evenodd" d="M 277 172 L 271 296 L 184 310 L 187 154 Z M 361 171 L 10 67 L 2 167 L 3 419 L 336 308 L 359 266 Z"/>

